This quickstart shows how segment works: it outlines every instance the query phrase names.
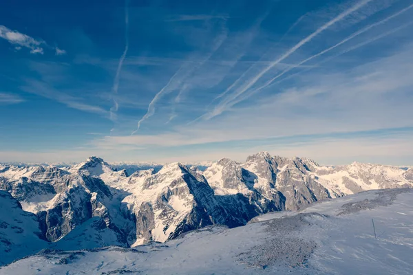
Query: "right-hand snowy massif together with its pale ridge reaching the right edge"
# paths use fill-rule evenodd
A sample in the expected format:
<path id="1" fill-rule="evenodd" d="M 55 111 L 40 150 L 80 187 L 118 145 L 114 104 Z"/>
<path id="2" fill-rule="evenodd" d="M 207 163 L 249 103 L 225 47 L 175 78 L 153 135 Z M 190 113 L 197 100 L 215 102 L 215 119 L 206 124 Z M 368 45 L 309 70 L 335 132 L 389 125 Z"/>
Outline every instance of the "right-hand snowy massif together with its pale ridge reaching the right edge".
<path id="1" fill-rule="evenodd" d="M 413 169 L 357 162 L 319 166 L 311 159 L 266 152 L 251 155 L 242 164 L 221 159 L 205 170 L 204 177 L 215 195 L 257 192 L 286 210 L 363 190 L 413 186 Z"/>

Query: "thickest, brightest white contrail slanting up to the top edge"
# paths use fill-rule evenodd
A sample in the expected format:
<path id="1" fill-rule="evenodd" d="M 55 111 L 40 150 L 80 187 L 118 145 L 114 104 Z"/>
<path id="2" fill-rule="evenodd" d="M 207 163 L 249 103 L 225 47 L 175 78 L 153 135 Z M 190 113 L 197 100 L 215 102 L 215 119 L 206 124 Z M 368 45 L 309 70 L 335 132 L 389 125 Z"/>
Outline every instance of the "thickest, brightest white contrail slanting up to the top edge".
<path id="1" fill-rule="evenodd" d="M 231 102 L 231 100 L 235 100 L 235 98 L 237 98 L 238 96 L 243 94 L 246 90 L 251 88 L 260 78 L 262 78 L 262 76 L 264 76 L 264 74 L 266 74 L 266 72 L 268 72 L 270 69 L 272 69 L 275 65 L 277 65 L 278 63 L 280 63 L 281 61 L 286 59 L 288 56 L 293 54 L 296 50 L 299 49 L 299 47 L 301 47 L 301 46 L 305 45 L 306 43 L 308 43 L 309 41 L 311 41 L 315 36 L 317 36 L 318 34 L 323 32 L 324 30 L 330 28 L 331 25 L 337 23 L 338 21 L 341 21 L 341 19 L 348 16 L 348 14 L 351 14 L 352 12 L 355 12 L 356 10 L 359 10 L 361 7 L 363 7 L 364 5 L 369 3 L 370 1 L 372 1 L 372 0 L 360 1 L 356 5 L 352 6 L 352 8 L 349 8 L 348 10 L 346 10 L 344 12 L 341 12 L 341 14 L 339 14 L 337 17 L 335 17 L 334 19 L 328 21 L 324 25 L 322 25 L 320 28 L 318 28 L 315 32 L 313 32 L 312 34 L 307 36 L 305 39 L 302 39 L 301 41 L 299 41 L 299 43 L 297 43 L 294 47 L 291 47 L 290 50 L 288 50 L 285 54 L 283 54 L 277 60 L 273 61 L 270 65 L 268 65 L 265 69 L 263 69 L 259 74 L 257 74 L 252 80 L 250 80 L 248 83 L 246 83 L 246 85 L 244 85 L 244 87 L 242 87 L 238 91 L 235 91 L 235 93 L 231 94 L 228 99 L 224 100 L 224 102 L 218 104 L 218 108 L 216 108 L 213 111 L 213 113 L 211 113 L 211 115 L 207 116 L 207 118 L 213 118 L 214 116 L 219 115 L 220 113 L 222 113 L 222 111 L 224 111 L 224 109 L 226 107 L 226 104 Z"/>

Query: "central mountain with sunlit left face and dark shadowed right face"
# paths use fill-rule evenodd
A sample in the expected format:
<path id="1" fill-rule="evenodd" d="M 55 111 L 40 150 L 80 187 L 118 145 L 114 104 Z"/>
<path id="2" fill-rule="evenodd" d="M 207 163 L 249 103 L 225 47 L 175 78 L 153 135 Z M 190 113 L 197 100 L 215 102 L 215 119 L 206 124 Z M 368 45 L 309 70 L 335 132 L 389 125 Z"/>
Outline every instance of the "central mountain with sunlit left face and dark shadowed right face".
<path id="1" fill-rule="evenodd" d="M 242 196 L 217 197 L 199 170 L 169 164 L 158 173 L 128 181 L 125 197 L 136 217 L 136 243 L 166 241 L 215 223 L 244 225 L 257 213 Z M 249 208 L 248 208 L 249 207 Z"/>

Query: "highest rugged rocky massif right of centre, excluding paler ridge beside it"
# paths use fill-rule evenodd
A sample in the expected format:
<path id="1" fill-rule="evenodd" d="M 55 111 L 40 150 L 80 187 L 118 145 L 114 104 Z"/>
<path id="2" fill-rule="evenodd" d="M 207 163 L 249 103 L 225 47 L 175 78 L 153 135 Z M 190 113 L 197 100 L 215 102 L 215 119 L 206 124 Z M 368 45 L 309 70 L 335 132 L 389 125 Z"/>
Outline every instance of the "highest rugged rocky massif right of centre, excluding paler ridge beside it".
<path id="1" fill-rule="evenodd" d="M 249 156 L 244 164 L 221 159 L 210 166 L 204 176 L 217 195 L 254 195 L 254 203 L 264 206 L 262 214 L 271 210 L 296 210 L 319 199 L 330 198 L 330 192 L 308 172 L 299 158 L 272 157 L 262 152 Z"/>

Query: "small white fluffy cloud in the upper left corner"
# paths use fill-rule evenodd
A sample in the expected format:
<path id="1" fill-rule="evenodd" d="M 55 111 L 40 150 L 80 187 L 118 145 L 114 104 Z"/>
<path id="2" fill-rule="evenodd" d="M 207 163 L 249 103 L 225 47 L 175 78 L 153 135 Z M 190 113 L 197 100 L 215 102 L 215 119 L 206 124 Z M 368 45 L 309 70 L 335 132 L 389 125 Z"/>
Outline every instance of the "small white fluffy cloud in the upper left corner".
<path id="1" fill-rule="evenodd" d="M 31 54 L 44 54 L 44 48 L 54 49 L 56 55 L 65 54 L 65 50 L 61 50 L 58 47 L 51 47 L 41 39 L 34 39 L 27 34 L 22 34 L 16 30 L 10 30 L 4 25 L 0 25 L 0 38 L 6 39 L 9 43 L 17 45 L 16 50 L 21 50 L 21 47 L 30 49 Z"/>

